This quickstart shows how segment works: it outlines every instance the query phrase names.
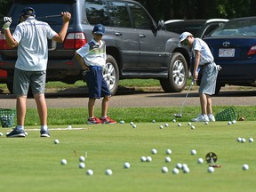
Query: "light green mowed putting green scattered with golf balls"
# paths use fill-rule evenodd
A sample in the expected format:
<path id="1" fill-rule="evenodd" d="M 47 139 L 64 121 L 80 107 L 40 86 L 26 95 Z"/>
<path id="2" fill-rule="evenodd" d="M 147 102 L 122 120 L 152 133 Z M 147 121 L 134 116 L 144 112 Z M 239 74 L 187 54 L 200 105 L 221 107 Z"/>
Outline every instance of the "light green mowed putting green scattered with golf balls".
<path id="1" fill-rule="evenodd" d="M 124 119 L 125 120 L 125 119 Z M 159 129 L 168 123 L 168 127 Z M 112 125 L 72 125 L 72 129 L 51 131 L 51 138 L 40 138 L 35 127 L 27 127 L 26 138 L 0 137 L 0 191 L 19 192 L 70 192 L 70 191 L 255 191 L 255 122 L 244 121 L 228 125 L 215 122 L 208 125 L 188 122 L 136 123 Z M 67 125 L 68 126 L 68 125 Z M 51 126 L 51 128 L 67 128 Z M 0 128 L 0 132 L 10 132 Z M 236 141 L 246 139 L 245 143 Z M 60 140 L 54 144 L 55 139 Z M 151 149 L 157 154 L 152 155 Z M 171 163 L 165 163 L 165 150 L 172 149 Z M 195 156 L 190 151 L 196 149 Z M 78 168 L 79 156 L 85 156 L 86 167 Z M 208 152 L 218 156 L 215 172 L 207 172 L 208 164 L 197 164 L 199 157 Z M 141 156 L 151 156 L 151 163 L 141 163 Z M 61 165 L 61 159 L 68 164 Z M 131 164 L 124 169 L 124 163 Z M 172 174 L 177 163 L 188 164 L 189 173 Z M 242 165 L 249 164 L 243 171 Z M 169 172 L 162 173 L 163 166 Z M 92 169 L 94 175 L 85 172 Z M 113 175 L 107 176 L 106 169 Z"/>

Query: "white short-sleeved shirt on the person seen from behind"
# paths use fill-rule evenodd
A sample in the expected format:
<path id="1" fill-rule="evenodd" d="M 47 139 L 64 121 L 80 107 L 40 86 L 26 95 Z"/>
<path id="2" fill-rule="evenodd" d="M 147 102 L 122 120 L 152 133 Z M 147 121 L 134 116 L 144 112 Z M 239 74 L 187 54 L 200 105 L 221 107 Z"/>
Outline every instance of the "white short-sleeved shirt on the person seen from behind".
<path id="1" fill-rule="evenodd" d="M 15 68 L 27 71 L 46 70 L 48 62 L 47 38 L 57 33 L 48 23 L 28 17 L 21 22 L 12 34 L 18 43 L 18 60 Z"/>

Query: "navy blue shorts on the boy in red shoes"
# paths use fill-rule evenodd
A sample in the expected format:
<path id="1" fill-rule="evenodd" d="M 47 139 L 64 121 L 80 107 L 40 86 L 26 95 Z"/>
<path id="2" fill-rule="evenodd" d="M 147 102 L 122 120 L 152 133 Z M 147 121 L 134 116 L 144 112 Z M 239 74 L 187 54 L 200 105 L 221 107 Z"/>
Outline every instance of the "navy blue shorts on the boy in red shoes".
<path id="1" fill-rule="evenodd" d="M 85 75 L 89 98 L 100 99 L 105 96 L 111 96 L 108 84 L 103 78 L 102 69 L 98 66 L 90 66 L 89 69 L 90 70 Z"/>

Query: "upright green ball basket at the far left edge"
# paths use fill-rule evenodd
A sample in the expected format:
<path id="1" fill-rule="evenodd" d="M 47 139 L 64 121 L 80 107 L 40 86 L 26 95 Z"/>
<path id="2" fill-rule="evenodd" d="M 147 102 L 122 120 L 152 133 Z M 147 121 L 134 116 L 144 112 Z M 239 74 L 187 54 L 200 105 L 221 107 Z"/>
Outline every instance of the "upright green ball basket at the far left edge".
<path id="1" fill-rule="evenodd" d="M 14 109 L 0 108 L 0 122 L 2 127 L 12 127 L 15 114 L 16 110 Z"/>

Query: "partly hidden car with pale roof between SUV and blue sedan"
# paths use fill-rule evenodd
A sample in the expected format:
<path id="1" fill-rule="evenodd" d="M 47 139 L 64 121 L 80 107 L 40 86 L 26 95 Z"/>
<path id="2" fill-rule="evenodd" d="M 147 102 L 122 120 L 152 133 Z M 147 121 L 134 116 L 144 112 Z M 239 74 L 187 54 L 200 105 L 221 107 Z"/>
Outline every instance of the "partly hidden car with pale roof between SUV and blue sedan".
<path id="1" fill-rule="evenodd" d="M 188 31 L 196 37 L 204 38 L 208 36 L 215 28 L 220 27 L 227 22 L 226 19 L 211 20 L 166 20 L 164 25 L 166 30 L 178 34 Z"/>

